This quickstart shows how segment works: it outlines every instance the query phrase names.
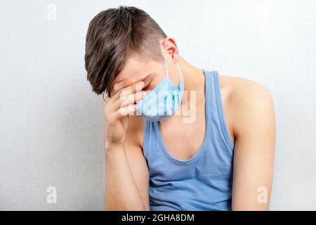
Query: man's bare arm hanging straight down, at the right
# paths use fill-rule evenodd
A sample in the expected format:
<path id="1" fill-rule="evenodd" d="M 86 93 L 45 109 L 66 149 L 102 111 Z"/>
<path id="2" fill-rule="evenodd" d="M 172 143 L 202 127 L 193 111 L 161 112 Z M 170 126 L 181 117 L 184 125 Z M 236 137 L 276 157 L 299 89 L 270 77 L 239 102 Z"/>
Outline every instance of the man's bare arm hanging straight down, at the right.
<path id="1" fill-rule="evenodd" d="M 275 111 L 268 91 L 239 80 L 235 109 L 232 210 L 268 210 L 275 156 Z"/>

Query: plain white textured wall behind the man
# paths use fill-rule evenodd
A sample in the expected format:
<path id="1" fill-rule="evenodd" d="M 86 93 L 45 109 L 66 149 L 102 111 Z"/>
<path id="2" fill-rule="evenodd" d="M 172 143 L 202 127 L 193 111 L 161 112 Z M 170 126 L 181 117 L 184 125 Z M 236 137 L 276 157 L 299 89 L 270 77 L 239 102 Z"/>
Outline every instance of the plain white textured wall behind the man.
<path id="1" fill-rule="evenodd" d="M 47 19 L 49 4 L 56 20 Z M 86 81 L 84 44 L 91 18 L 119 5 L 152 15 L 193 65 L 270 90 L 270 209 L 316 210 L 312 0 L 0 1 L 0 210 L 102 210 L 103 101 Z M 57 204 L 46 203 L 48 186 Z"/>

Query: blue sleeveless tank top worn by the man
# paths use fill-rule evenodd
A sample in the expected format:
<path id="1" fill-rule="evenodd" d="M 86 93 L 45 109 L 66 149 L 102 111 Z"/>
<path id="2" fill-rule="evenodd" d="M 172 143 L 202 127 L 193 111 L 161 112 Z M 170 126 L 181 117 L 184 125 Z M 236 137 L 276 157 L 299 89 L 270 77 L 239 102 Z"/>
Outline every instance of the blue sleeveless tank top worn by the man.
<path id="1" fill-rule="evenodd" d="M 145 123 L 143 153 L 150 171 L 150 210 L 231 210 L 234 143 L 224 120 L 218 72 L 203 72 L 206 129 L 202 146 L 192 158 L 173 158 L 162 140 L 159 122 Z"/>

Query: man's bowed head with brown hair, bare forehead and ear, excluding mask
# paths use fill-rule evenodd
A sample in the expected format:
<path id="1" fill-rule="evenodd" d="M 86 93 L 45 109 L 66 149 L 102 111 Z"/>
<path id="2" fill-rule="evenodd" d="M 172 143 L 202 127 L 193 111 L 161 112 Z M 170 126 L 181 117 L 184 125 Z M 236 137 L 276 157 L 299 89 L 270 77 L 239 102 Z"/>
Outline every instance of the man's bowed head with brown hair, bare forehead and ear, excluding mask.
<path id="1" fill-rule="evenodd" d="M 85 66 L 93 91 L 111 96 L 112 86 L 128 78 L 145 77 L 157 84 L 166 70 L 162 44 L 166 56 L 177 60 L 169 56 L 178 53 L 175 41 L 139 8 L 119 6 L 98 13 L 86 35 Z"/>

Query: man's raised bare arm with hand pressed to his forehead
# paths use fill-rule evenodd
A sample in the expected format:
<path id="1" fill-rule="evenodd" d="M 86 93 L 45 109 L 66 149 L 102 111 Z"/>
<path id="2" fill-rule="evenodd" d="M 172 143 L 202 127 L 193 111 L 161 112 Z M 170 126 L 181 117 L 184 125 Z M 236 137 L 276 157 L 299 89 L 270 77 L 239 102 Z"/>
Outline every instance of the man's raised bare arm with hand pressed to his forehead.
<path id="1" fill-rule="evenodd" d="M 148 169 L 137 137 L 138 127 L 129 115 L 145 96 L 143 82 L 133 79 L 114 84 L 104 103 L 106 191 L 105 210 L 148 210 Z M 134 118 L 133 118 L 134 119 Z M 147 180 L 148 181 L 148 180 Z"/>

